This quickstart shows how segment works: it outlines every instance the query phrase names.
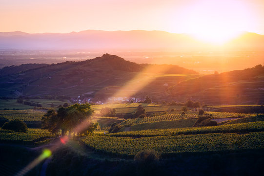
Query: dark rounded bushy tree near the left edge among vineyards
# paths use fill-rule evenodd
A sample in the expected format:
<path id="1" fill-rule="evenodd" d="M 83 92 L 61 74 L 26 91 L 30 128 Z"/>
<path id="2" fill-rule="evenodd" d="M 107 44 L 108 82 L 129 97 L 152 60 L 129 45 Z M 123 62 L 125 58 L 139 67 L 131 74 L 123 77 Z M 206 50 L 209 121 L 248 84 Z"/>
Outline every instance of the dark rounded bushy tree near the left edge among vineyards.
<path id="1" fill-rule="evenodd" d="M 27 125 L 22 120 L 15 119 L 5 122 L 2 129 L 13 130 L 15 132 L 27 132 Z"/>

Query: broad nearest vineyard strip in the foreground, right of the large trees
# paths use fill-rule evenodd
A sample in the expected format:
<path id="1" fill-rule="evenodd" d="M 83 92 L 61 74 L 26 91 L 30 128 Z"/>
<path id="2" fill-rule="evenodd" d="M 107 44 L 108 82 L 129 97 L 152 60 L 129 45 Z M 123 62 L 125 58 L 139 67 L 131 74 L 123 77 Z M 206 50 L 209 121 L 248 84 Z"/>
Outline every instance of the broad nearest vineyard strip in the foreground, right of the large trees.
<path id="1" fill-rule="evenodd" d="M 232 151 L 264 148 L 264 132 L 246 134 L 213 133 L 155 137 L 88 136 L 82 143 L 97 152 L 134 156 L 145 149 L 153 149 L 163 156 L 188 152 Z"/>

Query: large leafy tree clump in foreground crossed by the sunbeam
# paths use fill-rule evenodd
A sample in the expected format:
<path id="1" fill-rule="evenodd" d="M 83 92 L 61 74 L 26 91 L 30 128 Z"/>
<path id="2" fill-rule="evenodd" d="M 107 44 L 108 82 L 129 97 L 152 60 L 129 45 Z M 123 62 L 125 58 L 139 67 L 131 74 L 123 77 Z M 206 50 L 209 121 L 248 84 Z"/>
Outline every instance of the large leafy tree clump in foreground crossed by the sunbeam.
<path id="1" fill-rule="evenodd" d="M 94 110 L 91 109 L 89 104 L 74 104 L 67 108 L 60 107 L 56 110 L 49 110 L 42 117 L 42 128 L 48 129 L 51 132 L 59 132 L 62 135 L 68 131 L 80 133 L 89 129 L 89 126 L 94 125 L 91 123 L 91 114 Z M 81 126 L 79 126 L 81 124 Z M 90 129 L 89 129 L 90 130 Z"/>

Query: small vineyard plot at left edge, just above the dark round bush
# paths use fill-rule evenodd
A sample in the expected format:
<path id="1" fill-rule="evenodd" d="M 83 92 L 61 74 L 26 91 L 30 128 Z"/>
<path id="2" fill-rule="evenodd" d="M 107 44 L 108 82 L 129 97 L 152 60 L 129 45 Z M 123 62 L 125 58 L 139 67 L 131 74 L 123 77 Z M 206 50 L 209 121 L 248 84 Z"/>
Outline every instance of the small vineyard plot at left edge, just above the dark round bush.
<path id="1" fill-rule="evenodd" d="M 40 110 L 0 110 L 0 118 L 20 119 L 26 122 L 39 122 L 44 114 L 45 112 Z"/>

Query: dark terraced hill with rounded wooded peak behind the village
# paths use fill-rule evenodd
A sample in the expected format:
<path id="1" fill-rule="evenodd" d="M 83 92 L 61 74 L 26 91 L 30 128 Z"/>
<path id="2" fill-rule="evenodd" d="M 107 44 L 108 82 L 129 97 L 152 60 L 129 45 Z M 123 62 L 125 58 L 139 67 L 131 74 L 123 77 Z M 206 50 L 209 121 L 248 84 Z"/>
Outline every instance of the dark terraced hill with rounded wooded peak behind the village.
<path id="1" fill-rule="evenodd" d="M 149 67 L 151 69 L 148 69 Z M 165 69 L 166 67 L 168 69 Z M 155 76 L 157 80 L 161 76 L 165 79 L 166 74 L 169 74 L 168 77 L 179 76 L 176 74 L 197 76 L 197 72 L 180 66 L 136 64 L 109 54 L 81 62 L 9 66 L 1 69 L 0 73 L 0 96 L 6 97 L 18 95 L 94 97 L 97 94 L 101 98 L 106 98 L 118 91 L 117 87 L 123 87 L 139 73 L 142 74 L 142 78 Z M 159 83 L 156 88 L 150 87 L 151 91 L 163 92 L 164 83 L 166 82 Z"/>

